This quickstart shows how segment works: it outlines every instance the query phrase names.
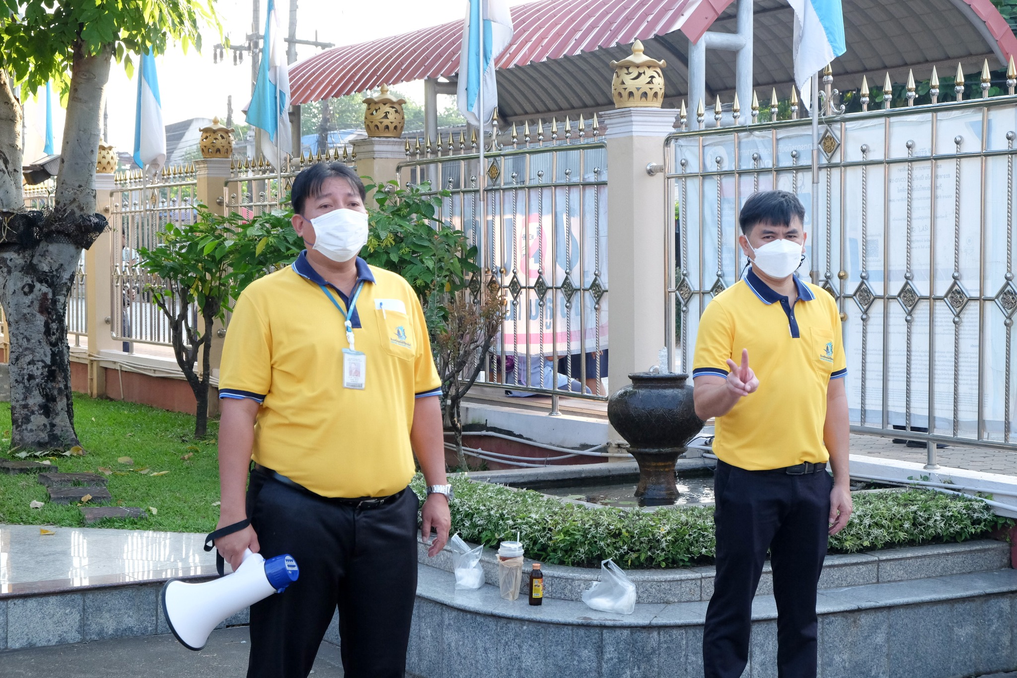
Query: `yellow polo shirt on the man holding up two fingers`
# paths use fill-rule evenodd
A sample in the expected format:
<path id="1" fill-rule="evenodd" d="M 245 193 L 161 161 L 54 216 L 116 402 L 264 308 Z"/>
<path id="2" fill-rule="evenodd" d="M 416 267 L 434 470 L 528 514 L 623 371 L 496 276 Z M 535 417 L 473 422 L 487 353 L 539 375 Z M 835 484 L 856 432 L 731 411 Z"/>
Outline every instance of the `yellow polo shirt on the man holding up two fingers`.
<path id="1" fill-rule="evenodd" d="M 700 319 L 693 377 L 726 377 L 727 359 L 749 366 L 759 389 L 716 419 L 713 451 L 747 471 L 825 464 L 827 387 L 847 374 L 833 297 L 797 276 L 792 308 L 751 269 L 717 295 Z"/>

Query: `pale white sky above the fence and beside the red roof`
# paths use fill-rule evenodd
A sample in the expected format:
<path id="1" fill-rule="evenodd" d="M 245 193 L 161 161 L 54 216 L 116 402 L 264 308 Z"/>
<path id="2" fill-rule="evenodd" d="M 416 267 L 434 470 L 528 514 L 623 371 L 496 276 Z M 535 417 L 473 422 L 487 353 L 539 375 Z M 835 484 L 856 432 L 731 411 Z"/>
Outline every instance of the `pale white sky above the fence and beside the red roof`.
<path id="1" fill-rule="evenodd" d="M 264 29 L 267 0 L 260 1 L 259 26 Z M 253 0 L 217 0 L 216 6 L 224 33 L 234 44 L 244 42 L 251 33 Z M 290 0 L 277 0 L 284 34 L 288 30 Z M 508 0 L 510 5 L 524 0 Z M 297 38 L 316 40 L 336 45 L 353 45 L 385 36 L 415 30 L 445 23 L 465 16 L 467 0 L 384 0 L 384 2 L 351 2 L 349 0 L 299 0 Z M 379 10 L 379 8 L 381 8 Z M 234 66 L 227 55 L 225 63 L 213 63 L 213 45 L 220 42 L 212 28 L 202 32 L 203 48 L 198 54 L 191 49 L 188 54 L 177 47 L 157 57 L 159 88 L 163 104 L 163 121 L 166 124 L 190 118 L 226 118 L 227 97 L 233 96 L 234 120 L 243 122 L 240 109 L 250 99 L 251 64 L 248 58 Z M 298 45 L 297 58 L 304 59 L 319 52 L 317 48 Z M 245 55 L 249 56 L 249 55 Z M 136 73 L 135 73 L 136 77 Z M 403 84 L 399 89 L 418 100 L 423 100 L 423 84 Z M 136 79 L 128 79 L 122 65 L 114 63 L 107 85 L 109 103 L 109 140 L 117 150 L 131 150 L 134 144 L 134 108 L 137 97 Z M 56 151 L 60 152 L 63 111 L 54 107 Z M 41 140 L 37 130 L 45 129 L 43 114 L 32 104 L 25 117 L 28 135 L 25 139 L 25 162 L 41 156 Z M 34 142 L 35 141 L 35 142 Z M 33 155 L 35 153 L 35 156 Z"/>

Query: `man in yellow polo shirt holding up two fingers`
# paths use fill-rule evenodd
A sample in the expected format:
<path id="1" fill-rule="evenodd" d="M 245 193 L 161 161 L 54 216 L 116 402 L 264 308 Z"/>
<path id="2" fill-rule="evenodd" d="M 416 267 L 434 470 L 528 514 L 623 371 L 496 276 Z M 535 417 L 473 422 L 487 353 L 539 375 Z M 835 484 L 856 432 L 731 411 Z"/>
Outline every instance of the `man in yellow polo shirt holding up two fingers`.
<path id="1" fill-rule="evenodd" d="M 794 275 L 804 253 L 804 214 L 787 191 L 745 200 L 738 242 L 752 268 L 700 320 L 696 414 L 716 418 L 719 458 L 706 678 L 737 678 L 745 668 L 768 549 L 778 674 L 815 678 L 816 589 L 828 537 L 851 514 L 840 315 L 829 294 Z"/>

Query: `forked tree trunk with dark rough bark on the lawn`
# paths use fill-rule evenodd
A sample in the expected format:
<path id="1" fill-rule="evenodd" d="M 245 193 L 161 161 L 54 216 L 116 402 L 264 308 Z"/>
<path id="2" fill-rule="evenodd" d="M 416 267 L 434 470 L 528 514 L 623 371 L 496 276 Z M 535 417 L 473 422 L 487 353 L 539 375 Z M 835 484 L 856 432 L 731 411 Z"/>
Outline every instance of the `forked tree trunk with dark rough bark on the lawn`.
<path id="1" fill-rule="evenodd" d="M 103 88 L 109 78 L 112 48 L 87 56 L 75 46 L 71 69 L 60 171 L 52 214 L 23 220 L 17 244 L 0 245 L 0 304 L 10 327 L 11 445 L 53 449 L 78 444 L 70 388 L 67 346 L 67 298 L 82 246 L 89 246 L 105 226 L 96 210 L 96 160 L 102 119 Z M 12 197 L 5 184 L 14 181 L 17 199 L 3 207 L 21 208 L 20 150 L 10 152 L 8 138 L 17 139 L 20 116 L 10 130 L 7 111 L 13 97 L 0 86 L 0 164 L 16 157 L 16 166 L 0 174 L 0 199 Z M 14 223 L 14 220 L 11 221 Z M 0 242 L 4 239 L 0 238 Z"/>

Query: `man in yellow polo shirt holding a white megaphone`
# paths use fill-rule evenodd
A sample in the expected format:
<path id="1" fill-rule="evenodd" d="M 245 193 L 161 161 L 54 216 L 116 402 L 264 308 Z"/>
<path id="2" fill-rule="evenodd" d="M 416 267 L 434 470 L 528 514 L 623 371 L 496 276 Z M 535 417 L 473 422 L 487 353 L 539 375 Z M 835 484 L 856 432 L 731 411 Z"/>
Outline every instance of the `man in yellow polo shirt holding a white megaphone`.
<path id="1" fill-rule="evenodd" d="M 244 291 L 226 335 L 222 517 L 210 538 L 234 568 L 245 549 L 300 567 L 285 593 L 251 606 L 249 677 L 307 676 L 338 607 L 347 678 L 402 678 L 417 588 L 414 453 L 425 541 L 437 532 L 429 554 L 448 537 L 427 327 L 410 285 L 357 256 L 364 198 L 340 163 L 301 172 L 293 228 L 307 249 Z"/>

